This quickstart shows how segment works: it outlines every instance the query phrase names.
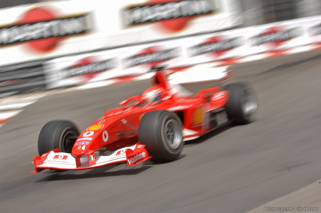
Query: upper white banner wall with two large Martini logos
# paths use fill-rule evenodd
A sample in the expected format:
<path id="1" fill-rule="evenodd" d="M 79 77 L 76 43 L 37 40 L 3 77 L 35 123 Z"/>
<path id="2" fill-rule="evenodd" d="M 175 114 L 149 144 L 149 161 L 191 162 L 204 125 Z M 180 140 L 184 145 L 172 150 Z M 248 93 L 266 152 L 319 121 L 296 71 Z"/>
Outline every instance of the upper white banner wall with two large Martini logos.
<path id="1" fill-rule="evenodd" d="M 237 0 L 70 0 L 0 10 L 0 65 L 218 31 Z"/>

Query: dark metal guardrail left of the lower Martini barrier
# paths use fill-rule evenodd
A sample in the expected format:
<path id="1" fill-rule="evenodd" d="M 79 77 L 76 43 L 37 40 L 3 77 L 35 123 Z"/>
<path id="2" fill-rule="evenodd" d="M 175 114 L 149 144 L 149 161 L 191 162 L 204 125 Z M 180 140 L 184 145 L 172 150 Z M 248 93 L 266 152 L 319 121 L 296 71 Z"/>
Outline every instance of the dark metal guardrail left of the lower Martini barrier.
<path id="1" fill-rule="evenodd" d="M 0 98 L 46 89 L 43 62 L 0 67 Z"/>

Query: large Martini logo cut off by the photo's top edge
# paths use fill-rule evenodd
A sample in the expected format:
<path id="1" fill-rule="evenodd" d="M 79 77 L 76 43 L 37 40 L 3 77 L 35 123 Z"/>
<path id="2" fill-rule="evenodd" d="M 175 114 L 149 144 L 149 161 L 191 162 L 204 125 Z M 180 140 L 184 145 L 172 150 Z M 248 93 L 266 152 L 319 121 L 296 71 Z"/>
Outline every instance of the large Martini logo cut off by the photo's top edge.
<path id="1" fill-rule="evenodd" d="M 217 12 L 217 0 L 151 0 L 122 10 L 125 27 L 155 23 L 170 33 L 186 29 L 187 23 L 200 15 Z"/>

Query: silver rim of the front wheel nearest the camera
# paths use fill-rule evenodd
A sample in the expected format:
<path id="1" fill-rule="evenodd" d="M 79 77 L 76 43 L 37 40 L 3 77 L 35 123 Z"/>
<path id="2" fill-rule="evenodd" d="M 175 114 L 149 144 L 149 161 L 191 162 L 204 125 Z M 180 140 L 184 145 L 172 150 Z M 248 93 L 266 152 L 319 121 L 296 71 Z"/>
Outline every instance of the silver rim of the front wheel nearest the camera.
<path id="1" fill-rule="evenodd" d="M 176 120 L 170 119 L 164 125 L 164 139 L 171 149 L 176 149 L 181 144 L 182 132 Z"/>

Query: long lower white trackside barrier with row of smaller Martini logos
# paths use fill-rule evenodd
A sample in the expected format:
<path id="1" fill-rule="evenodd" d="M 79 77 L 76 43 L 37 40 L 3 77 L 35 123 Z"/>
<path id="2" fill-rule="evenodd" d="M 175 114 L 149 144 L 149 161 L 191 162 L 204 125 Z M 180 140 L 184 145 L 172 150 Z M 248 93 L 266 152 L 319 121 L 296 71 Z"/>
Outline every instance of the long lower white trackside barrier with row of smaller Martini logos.
<path id="1" fill-rule="evenodd" d="M 57 58 L 45 71 L 48 88 L 54 88 L 145 73 L 151 66 L 233 60 L 313 43 L 321 43 L 321 16 Z M 105 63 L 111 59 L 112 65 Z"/>

